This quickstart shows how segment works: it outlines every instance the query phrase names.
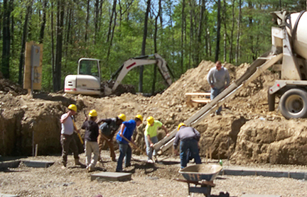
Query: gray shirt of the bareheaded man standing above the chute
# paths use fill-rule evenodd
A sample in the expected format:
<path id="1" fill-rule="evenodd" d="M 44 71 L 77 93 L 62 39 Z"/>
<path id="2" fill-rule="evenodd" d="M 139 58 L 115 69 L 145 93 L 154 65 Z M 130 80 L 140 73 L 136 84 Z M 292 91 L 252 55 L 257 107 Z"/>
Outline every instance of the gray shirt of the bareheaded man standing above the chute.
<path id="1" fill-rule="evenodd" d="M 222 89 L 225 86 L 229 86 L 230 75 L 225 67 L 222 67 L 220 70 L 217 70 L 216 67 L 212 67 L 208 73 L 207 80 L 210 85 L 213 85 L 217 89 Z"/>

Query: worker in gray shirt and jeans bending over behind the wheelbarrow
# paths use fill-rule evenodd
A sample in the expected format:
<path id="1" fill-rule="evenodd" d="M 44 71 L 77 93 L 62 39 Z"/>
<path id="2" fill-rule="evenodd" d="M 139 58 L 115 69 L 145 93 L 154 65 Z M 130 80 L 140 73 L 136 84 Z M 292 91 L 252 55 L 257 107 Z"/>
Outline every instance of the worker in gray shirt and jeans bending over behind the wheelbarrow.
<path id="1" fill-rule="evenodd" d="M 194 158 L 196 164 L 201 164 L 201 159 L 198 150 L 198 141 L 200 140 L 200 133 L 195 128 L 187 127 L 185 123 L 178 125 L 178 132 L 176 133 L 175 140 L 173 142 L 174 152 L 178 154 L 177 147 L 180 143 L 180 158 L 181 169 L 187 166 L 188 155 L 187 151 L 190 151 L 191 157 Z"/>

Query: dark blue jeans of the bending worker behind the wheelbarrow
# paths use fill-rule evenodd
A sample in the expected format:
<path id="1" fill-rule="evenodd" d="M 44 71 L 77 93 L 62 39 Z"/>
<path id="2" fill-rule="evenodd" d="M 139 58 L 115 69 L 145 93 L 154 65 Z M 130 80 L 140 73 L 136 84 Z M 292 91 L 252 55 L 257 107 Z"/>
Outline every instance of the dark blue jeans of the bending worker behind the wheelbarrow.
<path id="1" fill-rule="evenodd" d="M 198 141 L 194 138 L 181 140 L 180 145 L 180 157 L 181 157 L 181 168 L 185 168 L 188 162 L 187 151 L 190 150 L 191 157 L 194 158 L 196 164 L 201 164 L 201 159 L 198 150 Z"/>

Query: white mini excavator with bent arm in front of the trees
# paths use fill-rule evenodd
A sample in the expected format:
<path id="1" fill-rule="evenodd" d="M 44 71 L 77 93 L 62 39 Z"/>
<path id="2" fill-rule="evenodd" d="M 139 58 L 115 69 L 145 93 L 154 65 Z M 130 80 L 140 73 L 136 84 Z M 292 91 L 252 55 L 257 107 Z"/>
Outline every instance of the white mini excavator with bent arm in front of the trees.
<path id="1" fill-rule="evenodd" d="M 85 94 L 85 95 L 101 95 L 101 73 L 100 73 L 100 60 L 92 58 L 80 58 L 78 61 L 77 75 L 68 75 L 65 77 L 64 91 L 69 94 Z M 142 65 L 156 64 L 166 85 L 171 86 L 171 70 L 160 55 L 144 55 L 141 57 L 133 57 L 126 60 L 117 72 L 112 75 L 112 79 L 118 76 L 114 82 L 112 89 L 109 86 L 104 86 L 104 96 L 112 94 L 117 86 L 121 83 L 126 74 L 135 67 Z"/>

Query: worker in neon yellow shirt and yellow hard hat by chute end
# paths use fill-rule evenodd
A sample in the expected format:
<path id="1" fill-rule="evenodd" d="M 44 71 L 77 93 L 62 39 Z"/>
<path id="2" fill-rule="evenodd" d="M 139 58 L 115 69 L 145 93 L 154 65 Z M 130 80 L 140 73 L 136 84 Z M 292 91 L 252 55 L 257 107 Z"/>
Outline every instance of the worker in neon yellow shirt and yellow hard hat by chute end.
<path id="1" fill-rule="evenodd" d="M 155 120 L 154 117 L 149 116 L 149 118 L 147 118 L 147 125 L 144 132 L 144 139 L 146 143 L 146 154 L 148 156 L 149 162 L 153 161 L 152 159 L 153 155 L 156 160 L 156 150 L 154 150 L 153 146 L 156 142 L 158 142 L 158 137 L 157 137 L 158 128 L 163 128 L 163 130 L 166 132 L 166 135 L 168 136 L 168 130 L 163 125 L 163 123 L 161 123 L 158 120 Z"/>

